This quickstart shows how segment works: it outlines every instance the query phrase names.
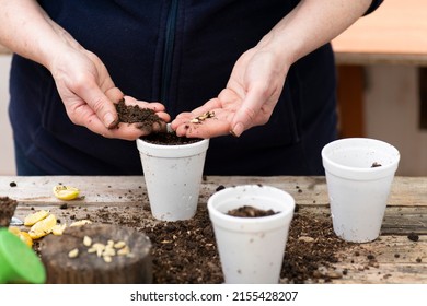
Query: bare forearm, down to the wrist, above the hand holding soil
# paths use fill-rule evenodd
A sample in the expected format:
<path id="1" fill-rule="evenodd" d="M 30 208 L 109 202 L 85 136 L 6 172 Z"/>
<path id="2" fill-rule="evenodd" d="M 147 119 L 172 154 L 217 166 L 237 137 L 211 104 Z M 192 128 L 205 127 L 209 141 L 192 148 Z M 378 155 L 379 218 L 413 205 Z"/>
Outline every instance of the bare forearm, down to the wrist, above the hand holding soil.
<path id="1" fill-rule="evenodd" d="M 34 0 L 0 0 L 0 44 L 49 69 L 66 48 L 81 48 Z"/>

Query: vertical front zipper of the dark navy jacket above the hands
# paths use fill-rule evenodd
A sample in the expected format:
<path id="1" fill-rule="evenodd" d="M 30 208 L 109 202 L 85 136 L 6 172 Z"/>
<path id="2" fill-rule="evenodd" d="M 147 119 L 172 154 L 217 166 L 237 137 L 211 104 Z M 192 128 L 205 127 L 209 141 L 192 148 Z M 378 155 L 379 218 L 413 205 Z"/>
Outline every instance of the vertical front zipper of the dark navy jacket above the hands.
<path id="1" fill-rule="evenodd" d="M 175 27 L 177 19 L 178 0 L 172 0 L 166 20 L 166 33 L 164 39 L 164 52 L 162 61 L 162 84 L 160 92 L 160 102 L 170 108 L 169 94 L 172 79 L 172 61 L 175 45 Z"/>

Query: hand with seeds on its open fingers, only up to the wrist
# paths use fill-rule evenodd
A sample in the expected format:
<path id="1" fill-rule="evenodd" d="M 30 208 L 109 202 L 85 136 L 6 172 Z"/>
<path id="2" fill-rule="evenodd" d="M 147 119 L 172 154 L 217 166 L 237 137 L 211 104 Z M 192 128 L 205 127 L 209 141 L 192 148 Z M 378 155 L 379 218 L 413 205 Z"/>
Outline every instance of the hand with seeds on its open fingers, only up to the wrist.
<path id="1" fill-rule="evenodd" d="M 234 64 L 227 87 L 218 97 L 172 121 L 178 136 L 212 138 L 244 130 L 268 121 L 284 87 L 288 67 L 264 48 L 244 52 Z M 198 116 L 209 114 L 204 120 Z"/>

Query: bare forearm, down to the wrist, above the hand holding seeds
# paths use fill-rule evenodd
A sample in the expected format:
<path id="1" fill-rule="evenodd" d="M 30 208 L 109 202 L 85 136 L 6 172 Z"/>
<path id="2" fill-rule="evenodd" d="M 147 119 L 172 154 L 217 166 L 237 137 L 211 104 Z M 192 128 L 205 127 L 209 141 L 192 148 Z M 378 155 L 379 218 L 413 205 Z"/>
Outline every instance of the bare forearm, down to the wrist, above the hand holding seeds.
<path id="1" fill-rule="evenodd" d="M 302 0 L 264 38 L 257 48 L 273 51 L 290 66 L 331 42 L 369 8 L 371 0 Z"/>

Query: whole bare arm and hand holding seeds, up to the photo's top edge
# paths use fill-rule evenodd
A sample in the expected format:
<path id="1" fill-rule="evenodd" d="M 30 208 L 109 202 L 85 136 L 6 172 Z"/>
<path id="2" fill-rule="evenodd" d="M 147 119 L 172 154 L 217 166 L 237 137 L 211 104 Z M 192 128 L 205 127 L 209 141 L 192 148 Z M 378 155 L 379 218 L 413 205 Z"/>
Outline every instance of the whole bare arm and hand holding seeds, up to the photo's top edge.
<path id="1" fill-rule="evenodd" d="M 172 128 L 180 136 L 211 138 L 268 121 L 290 66 L 331 42 L 356 22 L 372 0 L 301 0 L 234 64 L 227 87 L 192 113 L 180 114 Z M 203 122 L 192 119 L 208 114 Z"/>

